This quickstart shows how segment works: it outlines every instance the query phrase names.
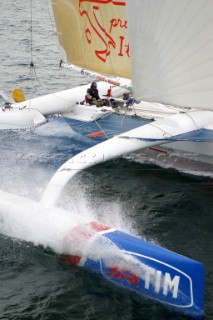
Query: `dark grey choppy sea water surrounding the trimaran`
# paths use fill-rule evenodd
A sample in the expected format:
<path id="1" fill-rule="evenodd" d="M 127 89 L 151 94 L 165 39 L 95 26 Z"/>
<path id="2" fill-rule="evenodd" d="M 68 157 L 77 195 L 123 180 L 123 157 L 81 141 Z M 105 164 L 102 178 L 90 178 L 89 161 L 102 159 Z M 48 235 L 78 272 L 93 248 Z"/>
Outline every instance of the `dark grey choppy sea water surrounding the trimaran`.
<path id="1" fill-rule="evenodd" d="M 49 1 L 1 0 L 0 90 L 7 96 L 15 87 L 30 98 L 89 81 L 59 68 L 50 13 Z M 0 189 L 39 200 L 55 170 L 81 151 L 80 139 L 63 119 L 32 131 L 0 132 Z M 212 178 L 119 159 L 78 174 L 62 202 L 70 214 L 93 214 L 204 263 L 205 319 L 211 320 L 212 195 Z M 187 319 L 61 262 L 47 244 L 57 247 L 58 236 L 50 235 L 64 231 L 63 217 L 41 214 L 35 221 L 30 209 L 18 214 L 6 226 L 8 235 L 0 235 L 0 319 Z"/>

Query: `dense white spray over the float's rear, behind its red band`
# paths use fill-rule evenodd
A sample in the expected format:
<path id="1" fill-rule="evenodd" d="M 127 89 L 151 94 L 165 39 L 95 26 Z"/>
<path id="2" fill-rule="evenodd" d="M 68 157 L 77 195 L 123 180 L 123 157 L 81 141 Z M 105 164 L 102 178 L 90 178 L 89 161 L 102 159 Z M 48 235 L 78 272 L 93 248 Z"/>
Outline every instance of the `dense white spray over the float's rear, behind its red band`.
<path id="1" fill-rule="evenodd" d="M 0 232 L 62 252 L 63 238 L 74 226 L 87 221 L 76 213 L 44 208 L 39 202 L 0 191 Z"/>

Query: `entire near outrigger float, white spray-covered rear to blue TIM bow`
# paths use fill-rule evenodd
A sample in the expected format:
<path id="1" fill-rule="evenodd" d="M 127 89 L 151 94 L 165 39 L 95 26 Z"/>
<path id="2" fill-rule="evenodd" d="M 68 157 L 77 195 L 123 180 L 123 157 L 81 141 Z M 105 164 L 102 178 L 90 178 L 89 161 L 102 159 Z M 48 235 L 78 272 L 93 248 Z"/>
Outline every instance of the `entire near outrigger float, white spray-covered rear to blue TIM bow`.
<path id="1" fill-rule="evenodd" d="M 66 210 L 48 208 L 22 196 L 0 191 L 0 203 L 2 234 L 46 245 L 64 261 L 99 274 L 112 284 L 177 312 L 202 317 L 201 263 L 78 214 L 72 213 L 70 218 Z M 29 219 L 33 221 L 32 228 L 26 223 Z M 48 219 L 59 219 L 59 227 L 48 230 L 43 243 L 43 238 L 33 230 L 36 224 L 47 230 Z M 59 230 L 63 233 L 58 234 Z"/>

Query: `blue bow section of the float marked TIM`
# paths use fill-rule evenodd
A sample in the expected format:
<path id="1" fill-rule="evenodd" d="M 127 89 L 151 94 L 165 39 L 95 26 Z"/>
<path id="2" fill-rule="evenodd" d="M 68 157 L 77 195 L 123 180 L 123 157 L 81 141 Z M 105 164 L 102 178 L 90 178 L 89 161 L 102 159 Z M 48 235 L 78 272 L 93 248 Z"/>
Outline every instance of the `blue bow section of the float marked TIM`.
<path id="1" fill-rule="evenodd" d="M 201 263 L 117 230 L 104 233 L 102 240 L 96 239 L 96 247 L 100 243 L 116 245 L 119 253 L 113 252 L 113 259 L 107 253 L 106 259 L 87 259 L 84 263 L 87 269 L 170 309 L 202 318 L 204 267 Z"/>

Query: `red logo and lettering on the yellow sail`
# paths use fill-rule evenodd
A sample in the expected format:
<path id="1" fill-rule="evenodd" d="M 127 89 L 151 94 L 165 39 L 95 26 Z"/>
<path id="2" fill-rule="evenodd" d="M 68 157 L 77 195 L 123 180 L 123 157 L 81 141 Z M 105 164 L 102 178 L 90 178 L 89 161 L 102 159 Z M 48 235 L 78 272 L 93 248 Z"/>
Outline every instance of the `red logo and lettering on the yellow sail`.
<path id="1" fill-rule="evenodd" d="M 109 9 L 109 6 L 117 7 L 117 10 L 110 10 L 112 12 L 110 16 L 104 14 L 105 8 Z M 119 57 L 130 56 L 126 32 L 127 20 L 122 10 L 125 6 L 124 1 L 79 0 L 79 13 L 81 17 L 86 17 L 87 22 L 85 23 L 87 43 L 94 45 L 93 40 L 96 39 L 95 43 L 97 39 L 99 40 L 99 48 L 94 48 L 94 53 L 104 63 L 112 52 Z"/>

